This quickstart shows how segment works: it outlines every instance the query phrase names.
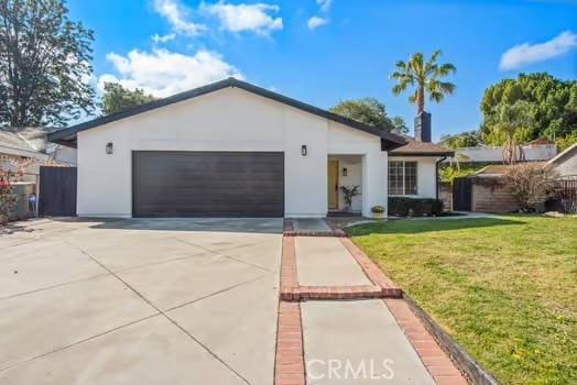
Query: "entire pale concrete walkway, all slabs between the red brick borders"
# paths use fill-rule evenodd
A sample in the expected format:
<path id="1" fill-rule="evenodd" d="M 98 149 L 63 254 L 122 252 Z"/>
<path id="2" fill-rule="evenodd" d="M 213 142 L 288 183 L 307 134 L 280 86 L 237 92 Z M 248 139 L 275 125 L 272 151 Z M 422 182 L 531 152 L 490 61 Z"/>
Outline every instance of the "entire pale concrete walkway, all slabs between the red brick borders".
<path id="1" fill-rule="evenodd" d="M 338 238 L 296 237 L 295 254 L 302 286 L 373 285 Z M 308 385 L 435 384 L 382 299 L 303 301 L 301 321 Z"/>

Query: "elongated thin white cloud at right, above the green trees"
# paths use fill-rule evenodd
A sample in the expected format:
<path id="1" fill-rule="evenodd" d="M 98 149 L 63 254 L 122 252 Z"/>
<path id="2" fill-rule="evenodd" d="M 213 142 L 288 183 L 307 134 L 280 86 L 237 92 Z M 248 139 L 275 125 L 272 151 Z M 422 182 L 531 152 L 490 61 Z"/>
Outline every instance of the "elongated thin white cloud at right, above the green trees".
<path id="1" fill-rule="evenodd" d="M 565 31 L 558 36 L 540 44 L 523 43 L 503 53 L 499 68 L 514 69 L 527 64 L 547 61 L 560 56 L 577 47 L 577 34 Z"/>

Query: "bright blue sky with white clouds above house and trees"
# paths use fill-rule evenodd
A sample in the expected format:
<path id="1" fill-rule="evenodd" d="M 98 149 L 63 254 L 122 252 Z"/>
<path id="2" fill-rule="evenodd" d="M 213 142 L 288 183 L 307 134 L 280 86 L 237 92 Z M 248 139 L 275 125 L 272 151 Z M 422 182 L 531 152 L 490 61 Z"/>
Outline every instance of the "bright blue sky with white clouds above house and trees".
<path id="1" fill-rule="evenodd" d="M 374 97 L 413 127 L 398 61 L 442 50 L 456 92 L 433 136 L 477 130 L 486 88 L 520 73 L 577 79 L 577 0 L 68 0 L 95 33 L 94 82 L 166 97 L 229 76 L 328 109 Z"/>

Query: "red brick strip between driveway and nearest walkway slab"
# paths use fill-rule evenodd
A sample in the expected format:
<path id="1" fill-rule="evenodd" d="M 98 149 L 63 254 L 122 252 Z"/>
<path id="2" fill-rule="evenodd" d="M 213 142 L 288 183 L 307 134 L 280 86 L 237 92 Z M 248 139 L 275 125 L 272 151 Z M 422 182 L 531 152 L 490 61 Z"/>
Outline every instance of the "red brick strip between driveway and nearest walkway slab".
<path id="1" fill-rule="evenodd" d="M 305 385 L 301 304 L 279 301 L 277 317 L 274 384 Z"/>

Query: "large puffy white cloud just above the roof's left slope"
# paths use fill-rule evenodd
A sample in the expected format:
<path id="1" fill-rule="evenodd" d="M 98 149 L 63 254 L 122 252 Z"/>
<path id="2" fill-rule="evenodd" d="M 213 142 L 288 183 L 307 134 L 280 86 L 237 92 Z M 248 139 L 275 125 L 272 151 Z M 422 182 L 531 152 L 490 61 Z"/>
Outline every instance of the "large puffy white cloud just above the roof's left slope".
<path id="1" fill-rule="evenodd" d="M 189 56 L 159 48 L 152 52 L 133 50 L 127 56 L 109 53 L 106 57 L 117 75 L 100 76 L 100 90 L 106 81 L 113 81 L 163 98 L 230 76 L 243 78 L 235 66 L 209 51 L 198 51 Z"/>

